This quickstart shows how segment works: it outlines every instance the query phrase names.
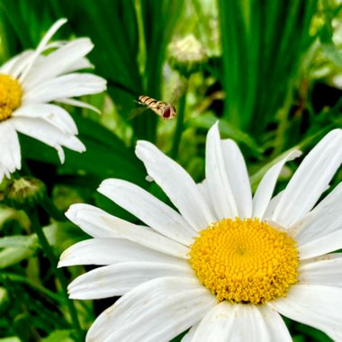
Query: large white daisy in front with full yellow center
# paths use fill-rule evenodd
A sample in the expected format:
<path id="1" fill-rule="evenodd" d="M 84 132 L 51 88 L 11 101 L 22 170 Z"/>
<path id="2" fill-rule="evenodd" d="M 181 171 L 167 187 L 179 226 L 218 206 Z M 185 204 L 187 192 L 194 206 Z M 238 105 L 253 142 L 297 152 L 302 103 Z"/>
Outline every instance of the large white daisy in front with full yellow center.
<path id="1" fill-rule="evenodd" d="M 281 315 L 342 341 L 342 184 L 320 202 L 342 160 L 332 130 L 272 198 L 284 163 L 252 196 L 238 146 L 206 141 L 205 181 L 154 145 L 136 153 L 177 211 L 120 179 L 99 192 L 145 225 L 75 204 L 67 217 L 93 238 L 76 243 L 59 266 L 102 265 L 69 285 L 74 299 L 121 296 L 94 321 L 87 341 L 292 341 Z M 318 204 L 317 204 L 318 202 Z"/>

